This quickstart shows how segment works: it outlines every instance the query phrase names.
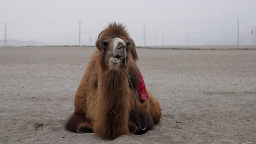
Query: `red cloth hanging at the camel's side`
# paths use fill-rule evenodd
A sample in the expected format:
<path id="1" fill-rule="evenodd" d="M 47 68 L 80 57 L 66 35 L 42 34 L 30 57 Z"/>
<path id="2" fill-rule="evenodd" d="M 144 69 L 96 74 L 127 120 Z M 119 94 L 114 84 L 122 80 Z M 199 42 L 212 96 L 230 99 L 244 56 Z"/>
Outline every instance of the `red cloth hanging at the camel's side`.
<path id="1" fill-rule="evenodd" d="M 139 101 L 148 99 L 148 93 L 141 71 L 139 71 L 138 99 Z"/>

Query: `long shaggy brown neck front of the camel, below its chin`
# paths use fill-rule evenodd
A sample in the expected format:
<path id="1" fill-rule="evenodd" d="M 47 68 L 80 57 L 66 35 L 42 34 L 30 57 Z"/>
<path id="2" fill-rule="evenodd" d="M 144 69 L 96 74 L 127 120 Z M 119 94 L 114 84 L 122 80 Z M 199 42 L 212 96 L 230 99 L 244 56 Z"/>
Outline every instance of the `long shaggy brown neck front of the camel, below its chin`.
<path id="1" fill-rule="evenodd" d="M 99 74 L 96 134 L 112 139 L 129 134 L 129 92 L 122 70 L 109 69 Z"/>

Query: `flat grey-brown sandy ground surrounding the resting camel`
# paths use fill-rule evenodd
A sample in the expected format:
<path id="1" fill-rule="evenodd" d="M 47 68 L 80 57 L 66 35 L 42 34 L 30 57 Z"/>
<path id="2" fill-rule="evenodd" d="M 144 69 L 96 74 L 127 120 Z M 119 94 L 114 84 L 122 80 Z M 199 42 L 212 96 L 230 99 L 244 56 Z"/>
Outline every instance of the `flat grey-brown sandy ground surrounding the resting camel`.
<path id="1" fill-rule="evenodd" d="M 256 51 L 138 49 L 162 107 L 144 135 L 105 141 L 63 128 L 88 47 L 0 47 L 0 143 L 256 143 Z"/>

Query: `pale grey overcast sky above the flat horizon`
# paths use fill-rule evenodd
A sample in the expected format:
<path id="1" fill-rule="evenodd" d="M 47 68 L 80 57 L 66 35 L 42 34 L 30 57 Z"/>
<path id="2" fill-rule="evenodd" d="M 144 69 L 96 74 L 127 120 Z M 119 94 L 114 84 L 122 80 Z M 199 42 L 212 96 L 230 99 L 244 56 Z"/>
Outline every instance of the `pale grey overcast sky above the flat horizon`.
<path id="1" fill-rule="evenodd" d="M 236 45 L 237 19 L 243 44 L 252 45 L 252 28 L 256 31 L 255 0 L 1 0 L 0 5 L 0 39 L 7 22 L 8 39 L 48 45 L 78 45 L 79 20 L 85 45 L 90 37 L 95 44 L 113 21 L 124 23 L 137 45 L 144 44 L 144 26 L 146 45 L 185 45 L 186 35 L 189 45 Z"/>

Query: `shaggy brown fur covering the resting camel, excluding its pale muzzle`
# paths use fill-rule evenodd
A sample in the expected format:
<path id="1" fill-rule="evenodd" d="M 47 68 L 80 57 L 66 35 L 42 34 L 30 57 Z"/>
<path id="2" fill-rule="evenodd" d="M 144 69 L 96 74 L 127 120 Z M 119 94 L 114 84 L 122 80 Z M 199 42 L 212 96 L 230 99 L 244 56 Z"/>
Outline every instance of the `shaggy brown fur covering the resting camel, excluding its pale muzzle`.
<path id="1" fill-rule="evenodd" d="M 109 66 L 112 57 L 113 39 L 121 38 L 126 43 L 126 61 L 121 59 L 119 68 Z M 88 68 L 75 95 L 75 110 L 66 123 L 66 129 L 75 133 L 94 132 L 103 139 L 115 139 L 120 135 L 143 134 L 159 123 L 161 108 L 150 93 L 147 101 L 139 103 L 139 122 L 146 130 L 140 130 L 135 114 L 135 104 L 129 80 L 137 91 L 139 82 L 138 59 L 135 43 L 123 25 L 112 23 L 98 35 L 97 50 L 92 55 Z M 147 106 L 147 109 L 145 105 Z"/>

